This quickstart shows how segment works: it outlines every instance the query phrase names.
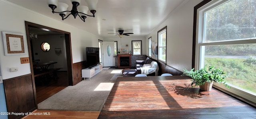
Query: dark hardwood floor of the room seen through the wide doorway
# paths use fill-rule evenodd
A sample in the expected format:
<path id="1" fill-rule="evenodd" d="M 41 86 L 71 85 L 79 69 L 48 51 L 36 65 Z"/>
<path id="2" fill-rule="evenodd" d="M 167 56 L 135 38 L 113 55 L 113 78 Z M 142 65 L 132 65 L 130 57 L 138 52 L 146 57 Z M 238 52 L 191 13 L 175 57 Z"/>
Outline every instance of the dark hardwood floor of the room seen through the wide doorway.
<path id="1" fill-rule="evenodd" d="M 58 80 L 50 80 L 49 82 L 40 78 L 35 79 L 36 97 L 38 103 L 44 101 L 68 86 L 68 73 L 60 71 L 57 72 L 57 75 L 59 77 Z"/>

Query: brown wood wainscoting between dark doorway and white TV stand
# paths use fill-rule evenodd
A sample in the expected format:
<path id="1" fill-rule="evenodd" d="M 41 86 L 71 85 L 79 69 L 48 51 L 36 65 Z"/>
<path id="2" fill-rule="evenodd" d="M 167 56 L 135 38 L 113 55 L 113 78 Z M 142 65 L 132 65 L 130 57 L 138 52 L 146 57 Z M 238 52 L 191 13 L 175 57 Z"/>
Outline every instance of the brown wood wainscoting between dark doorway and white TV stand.
<path id="1" fill-rule="evenodd" d="M 82 81 L 82 69 L 85 68 L 85 61 L 77 62 L 73 64 L 73 86 Z"/>

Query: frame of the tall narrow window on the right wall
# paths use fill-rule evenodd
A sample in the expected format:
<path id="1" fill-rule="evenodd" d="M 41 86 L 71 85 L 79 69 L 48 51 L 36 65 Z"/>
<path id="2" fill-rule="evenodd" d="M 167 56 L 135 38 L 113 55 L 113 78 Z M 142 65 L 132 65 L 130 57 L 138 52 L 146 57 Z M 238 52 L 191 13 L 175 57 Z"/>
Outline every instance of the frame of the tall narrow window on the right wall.
<path id="1" fill-rule="evenodd" d="M 160 34 L 162 34 L 162 32 L 164 32 L 165 31 L 165 33 L 166 33 L 166 46 L 160 46 L 160 39 L 159 39 L 159 37 L 160 37 Z M 165 26 L 165 27 L 163 27 L 162 29 L 160 29 L 158 32 L 157 32 L 157 41 L 158 41 L 158 61 L 160 61 L 160 62 L 164 62 L 165 64 L 166 64 L 166 55 L 167 55 L 167 26 Z M 160 48 L 164 48 L 165 47 L 165 53 L 166 53 L 166 55 L 165 55 L 165 61 L 164 60 L 161 60 L 161 59 L 159 59 L 159 57 L 160 57 Z"/>

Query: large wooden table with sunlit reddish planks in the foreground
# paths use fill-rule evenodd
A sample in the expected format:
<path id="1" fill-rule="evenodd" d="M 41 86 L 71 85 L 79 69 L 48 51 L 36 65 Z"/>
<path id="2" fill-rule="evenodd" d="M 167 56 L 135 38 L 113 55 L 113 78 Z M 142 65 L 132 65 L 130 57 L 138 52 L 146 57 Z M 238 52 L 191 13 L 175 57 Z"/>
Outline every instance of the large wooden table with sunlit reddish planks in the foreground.
<path id="1" fill-rule="evenodd" d="M 256 109 L 186 76 L 118 77 L 98 119 L 255 119 Z"/>

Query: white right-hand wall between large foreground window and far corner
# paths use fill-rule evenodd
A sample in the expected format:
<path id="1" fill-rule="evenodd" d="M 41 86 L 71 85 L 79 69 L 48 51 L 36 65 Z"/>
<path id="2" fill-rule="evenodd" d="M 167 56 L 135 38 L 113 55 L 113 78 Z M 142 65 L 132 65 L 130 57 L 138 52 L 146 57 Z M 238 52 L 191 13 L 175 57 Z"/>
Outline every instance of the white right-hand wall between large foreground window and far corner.
<path id="1" fill-rule="evenodd" d="M 167 26 L 166 64 L 180 71 L 192 68 L 194 6 L 200 2 L 202 0 L 186 0 L 146 36 L 146 39 L 152 37 L 152 40 L 157 40 L 157 32 Z M 146 54 L 148 55 L 148 50 Z"/>

